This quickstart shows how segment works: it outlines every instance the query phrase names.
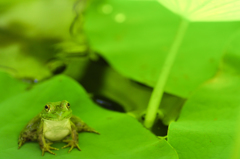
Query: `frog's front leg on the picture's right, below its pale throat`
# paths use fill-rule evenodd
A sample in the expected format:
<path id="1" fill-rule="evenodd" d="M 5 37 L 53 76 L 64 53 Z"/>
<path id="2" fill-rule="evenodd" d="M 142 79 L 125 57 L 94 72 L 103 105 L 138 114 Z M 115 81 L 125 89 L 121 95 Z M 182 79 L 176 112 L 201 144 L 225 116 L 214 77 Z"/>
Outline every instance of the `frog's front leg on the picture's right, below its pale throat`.
<path id="1" fill-rule="evenodd" d="M 81 151 L 79 145 L 78 145 L 78 132 L 77 127 L 71 122 L 71 139 L 63 140 L 63 142 L 67 142 L 68 144 L 63 146 L 62 148 L 71 147 L 68 151 L 71 152 L 74 147 L 76 147 L 79 151 Z"/>

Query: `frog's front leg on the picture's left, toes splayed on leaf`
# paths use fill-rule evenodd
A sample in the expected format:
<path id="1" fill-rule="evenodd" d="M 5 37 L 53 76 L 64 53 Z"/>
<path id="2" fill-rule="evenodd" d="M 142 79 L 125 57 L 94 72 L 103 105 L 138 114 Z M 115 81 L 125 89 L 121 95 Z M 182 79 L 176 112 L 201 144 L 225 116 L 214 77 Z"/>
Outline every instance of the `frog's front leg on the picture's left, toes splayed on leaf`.
<path id="1" fill-rule="evenodd" d="M 43 121 L 41 121 L 40 126 L 38 128 L 38 142 L 42 150 L 42 156 L 44 155 L 45 152 L 49 152 L 53 155 L 56 155 L 51 150 L 58 150 L 58 149 L 55 147 L 51 147 L 50 145 L 52 145 L 53 143 L 47 142 L 47 140 L 44 138 Z"/>

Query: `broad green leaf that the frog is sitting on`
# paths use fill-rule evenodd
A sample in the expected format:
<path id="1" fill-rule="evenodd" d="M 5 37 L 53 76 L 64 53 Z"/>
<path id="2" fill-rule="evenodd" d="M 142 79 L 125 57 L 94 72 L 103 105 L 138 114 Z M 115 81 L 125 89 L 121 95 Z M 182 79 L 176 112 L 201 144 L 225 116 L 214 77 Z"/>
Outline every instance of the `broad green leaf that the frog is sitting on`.
<path id="1" fill-rule="evenodd" d="M 5 85 L 5 89 L 14 86 Z M 4 93 L 1 91 L 1 94 Z M 57 76 L 38 84 L 32 90 L 12 96 L 0 103 L 4 114 L 0 121 L 0 156 L 2 158 L 42 158 L 38 143 L 26 143 L 17 149 L 17 138 L 23 126 L 41 111 L 46 102 L 66 99 L 73 113 L 101 133 L 81 133 L 79 152 L 57 151 L 60 158 L 178 158 L 165 140 L 159 140 L 134 118 L 105 110 L 93 104 L 78 83 Z M 54 144 L 62 147 L 63 143 Z M 45 158 L 53 155 L 46 153 Z"/>

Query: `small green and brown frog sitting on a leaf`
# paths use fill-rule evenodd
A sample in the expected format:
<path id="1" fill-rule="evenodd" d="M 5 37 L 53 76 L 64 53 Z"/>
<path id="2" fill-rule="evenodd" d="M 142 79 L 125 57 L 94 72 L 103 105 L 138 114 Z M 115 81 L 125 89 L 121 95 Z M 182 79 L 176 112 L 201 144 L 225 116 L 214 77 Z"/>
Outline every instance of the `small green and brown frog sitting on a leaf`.
<path id="1" fill-rule="evenodd" d="M 26 142 L 38 141 L 42 156 L 45 152 L 56 155 L 52 150 L 59 149 L 51 145 L 54 142 L 62 141 L 67 143 L 62 148 L 70 147 L 68 153 L 73 148 L 81 151 L 78 144 L 78 133 L 80 132 L 99 134 L 72 114 L 70 103 L 67 100 L 48 102 L 44 105 L 43 110 L 22 129 L 18 138 L 18 149 Z"/>

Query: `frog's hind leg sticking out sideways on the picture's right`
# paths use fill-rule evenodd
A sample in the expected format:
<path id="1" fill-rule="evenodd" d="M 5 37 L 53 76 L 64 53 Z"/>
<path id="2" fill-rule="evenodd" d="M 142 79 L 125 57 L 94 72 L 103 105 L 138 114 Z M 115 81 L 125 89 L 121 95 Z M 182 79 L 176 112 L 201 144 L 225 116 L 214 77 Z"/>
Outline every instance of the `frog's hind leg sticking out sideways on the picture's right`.
<path id="1" fill-rule="evenodd" d="M 94 130 L 93 128 L 91 128 L 90 126 L 88 126 L 86 123 L 84 123 L 80 118 L 78 118 L 77 116 L 72 116 L 71 117 L 71 121 L 73 122 L 73 124 L 76 126 L 77 132 L 92 132 L 92 133 L 96 133 L 96 134 L 100 134 L 99 132 L 97 132 L 96 130 Z"/>

